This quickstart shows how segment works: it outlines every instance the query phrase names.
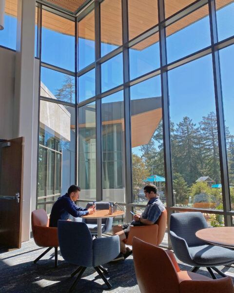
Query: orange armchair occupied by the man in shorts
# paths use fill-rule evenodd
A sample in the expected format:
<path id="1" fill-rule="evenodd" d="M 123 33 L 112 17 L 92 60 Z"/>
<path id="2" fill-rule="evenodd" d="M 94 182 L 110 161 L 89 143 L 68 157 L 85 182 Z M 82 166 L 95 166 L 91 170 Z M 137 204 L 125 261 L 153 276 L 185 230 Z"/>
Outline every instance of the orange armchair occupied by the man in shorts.
<path id="1" fill-rule="evenodd" d="M 133 237 L 137 237 L 147 243 L 159 245 L 163 240 L 166 225 L 167 210 L 165 209 L 155 225 L 131 227 L 125 244 L 133 245 Z"/>

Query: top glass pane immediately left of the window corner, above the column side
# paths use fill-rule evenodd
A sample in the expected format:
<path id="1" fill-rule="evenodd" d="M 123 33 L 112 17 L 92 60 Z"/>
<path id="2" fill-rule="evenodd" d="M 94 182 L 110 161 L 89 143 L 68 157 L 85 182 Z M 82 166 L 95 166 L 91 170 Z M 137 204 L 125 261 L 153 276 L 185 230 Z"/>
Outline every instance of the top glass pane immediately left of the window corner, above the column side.
<path id="1" fill-rule="evenodd" d="M 42 10 L 41 61 L 75 71 L 75 22 Z"/>

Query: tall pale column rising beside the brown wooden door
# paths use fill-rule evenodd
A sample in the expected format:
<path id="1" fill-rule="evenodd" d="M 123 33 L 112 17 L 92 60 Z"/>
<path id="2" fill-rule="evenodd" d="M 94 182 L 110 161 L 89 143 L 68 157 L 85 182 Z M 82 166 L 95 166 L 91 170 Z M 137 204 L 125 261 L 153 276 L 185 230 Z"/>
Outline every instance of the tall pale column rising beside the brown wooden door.
<path id="1" fill-rule="evenodd" d="M 17 15 L 17 52 L 14 97 L 14 137 L 23 136 L 23 211 L 22 241 L 30 238 L 31 198 L 36 198 L 35 130 L 37 131 L 37 106 L 34 101 L 34 40 L 35 40 L 35 0 L 18 0 Z M 36 117 L 35 117 L 36 115 Z"/>

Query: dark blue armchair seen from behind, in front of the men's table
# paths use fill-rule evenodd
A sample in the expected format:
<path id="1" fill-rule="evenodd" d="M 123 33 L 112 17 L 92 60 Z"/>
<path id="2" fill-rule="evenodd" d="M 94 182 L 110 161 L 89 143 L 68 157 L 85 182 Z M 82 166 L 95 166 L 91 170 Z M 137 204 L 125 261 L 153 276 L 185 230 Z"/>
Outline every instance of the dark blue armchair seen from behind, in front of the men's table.
<path id="1" fill-rule="evenodd" d="M 77 285 L 87 267 L 94 267 L 108 288 L 112 285 L 103 272 L 108 272 L 102 267 L 119 254 L 119 237 L 93 237 L 85 223 L 58 221 L 59 247 L 62 257 L 69 263 L 78 265 L 78 269 L 71 274 L 78 274 L 69 292 Z"/>

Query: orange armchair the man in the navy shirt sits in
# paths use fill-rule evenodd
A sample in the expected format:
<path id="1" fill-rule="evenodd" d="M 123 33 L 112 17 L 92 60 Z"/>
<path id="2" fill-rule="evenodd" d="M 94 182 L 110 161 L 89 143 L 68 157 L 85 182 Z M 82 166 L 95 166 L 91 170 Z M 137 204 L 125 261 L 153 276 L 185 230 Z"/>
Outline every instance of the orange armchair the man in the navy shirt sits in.
<path id="1" fill-rule="evenodd" d="M 58 229 L 49 227 L 49 219 L 44 209 L 32 211 L 32 230 L 35 243 L 40 247 L 48 247 L 46 251 L 41 253 L 39 257 L 34 260 L 34 263 L 54 247 L 55 267 L 57 267 L 59 247 Z"/>

